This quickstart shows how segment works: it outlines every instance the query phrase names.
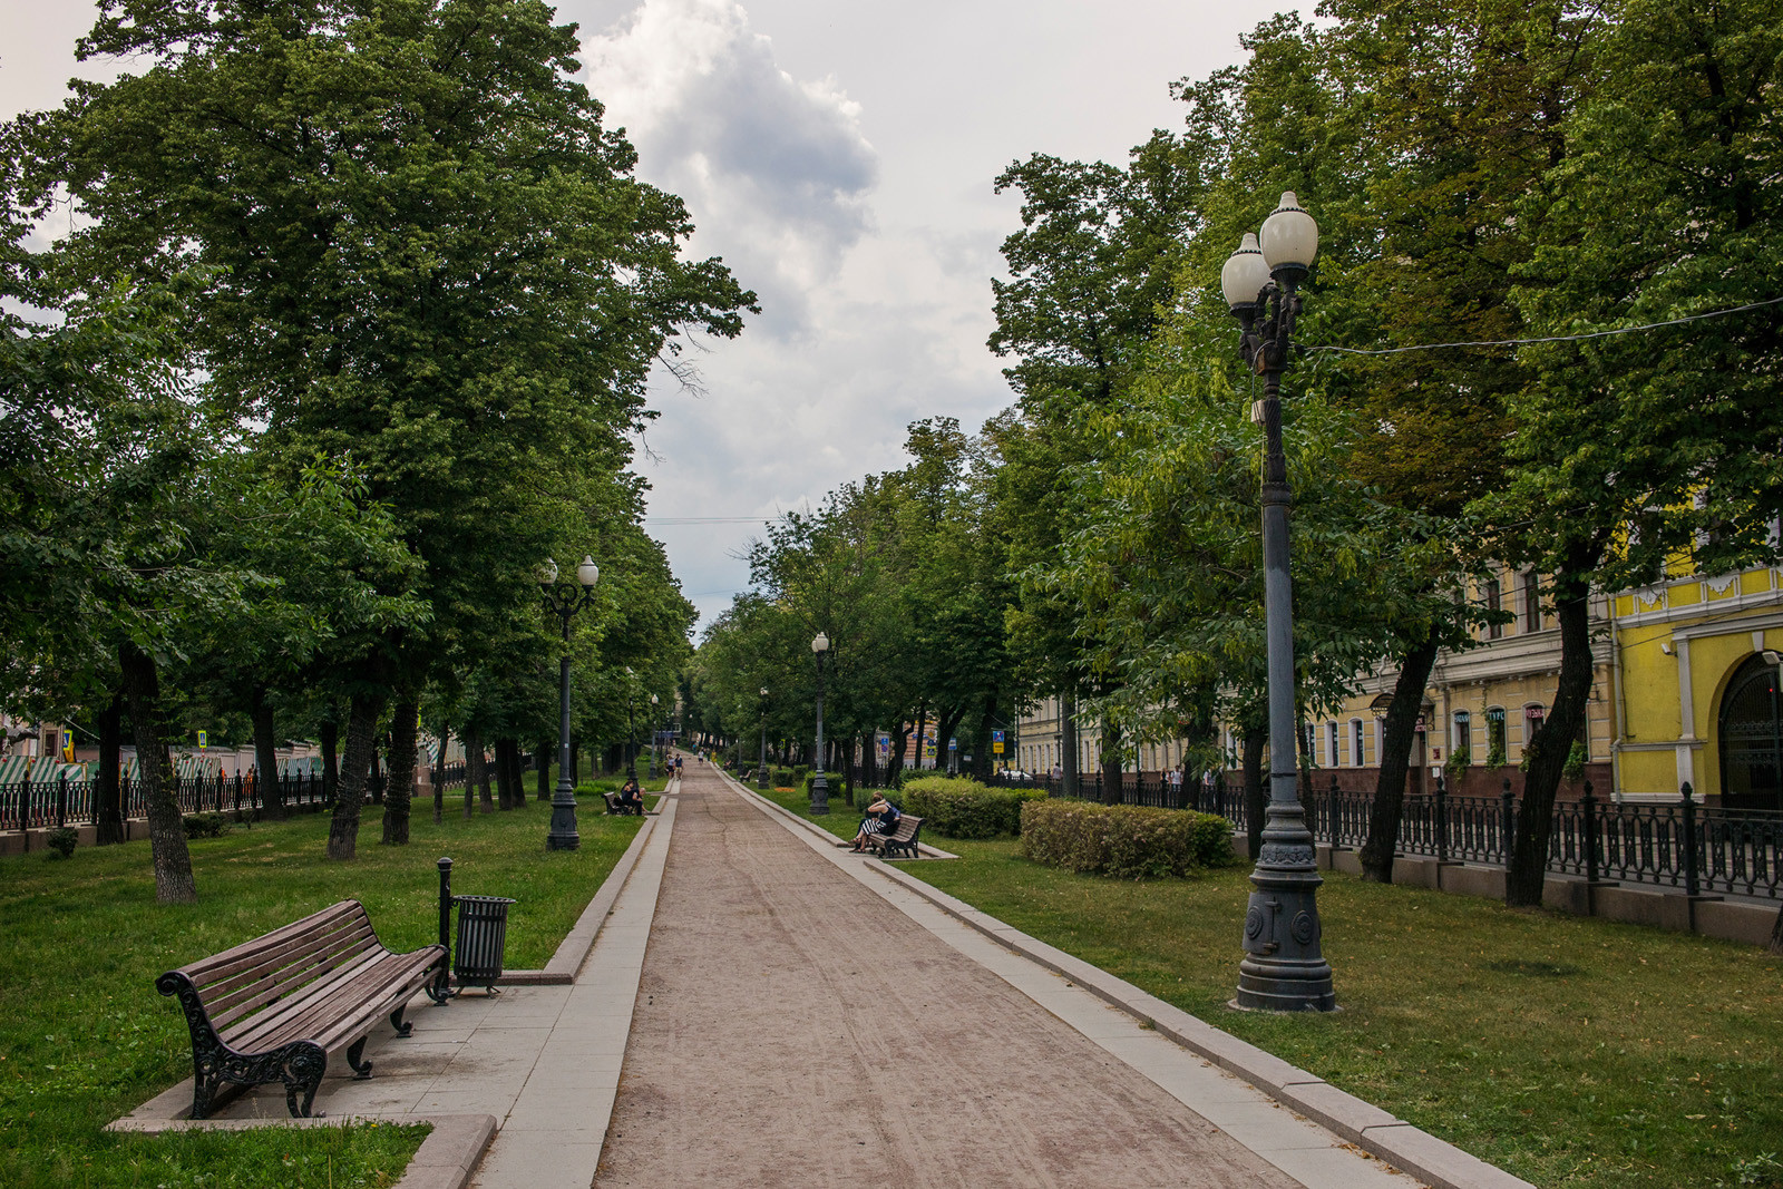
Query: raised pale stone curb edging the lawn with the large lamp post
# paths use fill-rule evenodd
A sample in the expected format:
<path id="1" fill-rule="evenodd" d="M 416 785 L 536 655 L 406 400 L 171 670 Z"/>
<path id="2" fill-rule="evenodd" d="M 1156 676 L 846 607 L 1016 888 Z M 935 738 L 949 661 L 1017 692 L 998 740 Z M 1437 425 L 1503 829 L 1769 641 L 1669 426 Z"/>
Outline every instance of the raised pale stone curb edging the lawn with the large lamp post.
<path id="1" fill-rule="evenodd" d="M 1535 1189 L 1530 1182 L 1512 1177 L 1505 1169 L 1487 1164 L 1248 1041 L 1221 1032 L 1205 1020 L 1191 1016 L 1098 966 L 1031 938 L 915 875 L 879 859 L 867 859 L 867 866 L 1004 948 L 1075 982 L 1097 998 L 1134 1016 L 1139 1023 L 1157 1029 L 1177 1045 L 1250 1082 L 1282 1105 L 1298 1111 L 1394 1168 L 1423 1178 L 1432 1189 Z"/>

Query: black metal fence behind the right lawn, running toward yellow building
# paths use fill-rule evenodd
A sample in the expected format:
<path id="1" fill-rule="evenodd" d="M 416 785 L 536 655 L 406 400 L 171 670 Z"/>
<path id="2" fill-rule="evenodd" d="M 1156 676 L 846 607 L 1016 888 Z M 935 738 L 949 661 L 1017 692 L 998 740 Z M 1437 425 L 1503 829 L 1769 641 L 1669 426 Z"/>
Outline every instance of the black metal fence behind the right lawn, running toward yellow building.
<path id="1" fill-rule="evenodd" d="M 1004 783 L 1064 795 L 1056 777 Z M 1086 774 L 1079 795 L 1104 800 L 1102 774 Z M 1161 775 L 1127 772 L 1118 804 L 1198 809 L 1239 831 L 1248 827 L 1243 793 L 1223 781 L 1171 784 Z M 1316 841 L 1350 849 L 1368 841 L 1373 793 L 1341 790 L 1332 781 L 1328 790 L 1303 793 L 1302 804 Z M 1439 779 L 1434 791 L 1405 797 L 1398 854 L 1507 866 L 1519 811 L 1508 784 L 1498 797 L 1451 797 Z M 1783 900 L 1779 868 L 1783 813 L 1705 806 L 1689 784 L 1671 802 L 1606 802 L 1585 784 L 1582 799 L 1555 804 L 1548 832 L 1548 870 L 1590 881 Z"/>

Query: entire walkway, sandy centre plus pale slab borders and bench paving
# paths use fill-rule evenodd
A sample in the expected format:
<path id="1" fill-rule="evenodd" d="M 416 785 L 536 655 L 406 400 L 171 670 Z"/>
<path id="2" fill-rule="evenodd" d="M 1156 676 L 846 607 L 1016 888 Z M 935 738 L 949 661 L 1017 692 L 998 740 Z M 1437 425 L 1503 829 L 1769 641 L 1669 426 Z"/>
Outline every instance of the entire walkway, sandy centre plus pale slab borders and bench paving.
<path id="1" fill-rule="evenodd" d="M 494 1116 L 476 1189 L 1417 1185 L 713 768 L 663 806 L 574 986 L 417 1007 L 317 1107 Z"/>

